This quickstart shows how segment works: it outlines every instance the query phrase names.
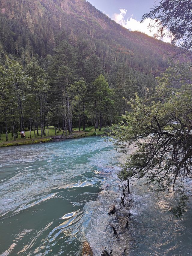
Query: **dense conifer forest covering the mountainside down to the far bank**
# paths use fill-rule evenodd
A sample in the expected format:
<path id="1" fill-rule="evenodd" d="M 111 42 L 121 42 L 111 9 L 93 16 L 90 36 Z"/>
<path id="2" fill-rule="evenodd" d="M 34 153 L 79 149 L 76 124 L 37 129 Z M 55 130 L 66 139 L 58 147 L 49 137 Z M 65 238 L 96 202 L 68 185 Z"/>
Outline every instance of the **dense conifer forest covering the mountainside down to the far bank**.
<path id="1" fill-rule="evenodd" d="M 0 132 L 14 139 L 118 122 L 178 51 L 84 0 L 0 0 L 0 27 Z"/>

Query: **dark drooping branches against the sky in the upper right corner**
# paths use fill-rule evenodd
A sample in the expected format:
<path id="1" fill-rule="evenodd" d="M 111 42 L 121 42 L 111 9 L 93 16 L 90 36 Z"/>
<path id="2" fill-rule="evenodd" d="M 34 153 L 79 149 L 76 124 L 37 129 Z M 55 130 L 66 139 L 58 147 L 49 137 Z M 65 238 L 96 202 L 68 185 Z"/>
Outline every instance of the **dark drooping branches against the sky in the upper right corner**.
<path id="1" fill-rule="evenodd" d="M 192 49 L 192 3 L 191 0 L 162 0 L 142 18 L 151 18 L 157 28 L 156 36 L 171 35 L 172 44 L 179 44 L 185 50 Z"/>

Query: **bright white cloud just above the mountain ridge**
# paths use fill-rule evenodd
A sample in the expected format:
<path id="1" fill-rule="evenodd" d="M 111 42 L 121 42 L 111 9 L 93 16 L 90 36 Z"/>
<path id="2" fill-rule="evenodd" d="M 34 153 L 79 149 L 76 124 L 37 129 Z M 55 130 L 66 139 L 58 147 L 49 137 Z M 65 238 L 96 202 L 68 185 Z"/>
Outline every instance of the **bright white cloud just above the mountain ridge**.
<path id="1" fill-rule="evenodd" d="M 140 23 L 140 21 L 135 20 L 133 18 L 133 15 L 131 18 L 125 20 L 125 14 L 127 13 L 127 10 L 125 9 L 119 9 L 120 13 L 119 14 L 114 14 L 113 15 L 113 20 L 115 20 L 117 23 L 122 25 L 123 27 L 131 30 L 131 31 L 140 31 L 143 32 L 149 36 L 154 36 L 155 32 L 157 32 L 157 29 L 153 29 L 150 31 L 149 25 L 153 25 L 154 21 L 151 19 L 146 19 L 144 20 L 143 23 Z M 163 41 L 166 43 L 170 43 L 171 39 L 169 36 L 165 36 L 163 38 Z"/>

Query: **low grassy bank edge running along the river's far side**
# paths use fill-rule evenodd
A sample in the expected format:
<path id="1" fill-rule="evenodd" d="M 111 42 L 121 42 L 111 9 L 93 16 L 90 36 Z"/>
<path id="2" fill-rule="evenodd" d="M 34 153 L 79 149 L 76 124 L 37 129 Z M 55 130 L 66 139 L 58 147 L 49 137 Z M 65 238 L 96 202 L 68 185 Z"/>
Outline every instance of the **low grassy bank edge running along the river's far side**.
<path id="1" fill-rule="evenodd" d="M 77 138 L 85 138 L 89 136 L 101 136 L 106 134 L 106 131 L 96 131 L 95 129 L 91 129 L 88 132 L 84 131 L 74 131 L 73 134 L 63 135 L 61 139 L 61 135 L 58 134 L 56 136 L 46 136 L 46 137 L 36 137 L 36 138 L 27 138 L 27 139 L 17 139 L 17 140 L 9 140 L 9 141 L 1 141 L 0 147 L 9 147 L 9 146 L 22 146 L 22 145 L 30 145 L 30 144 L 38 144 L 38 143 L 46 143 L 52 141 L 63 141 L 68 139 L 77 139 Z"/>

